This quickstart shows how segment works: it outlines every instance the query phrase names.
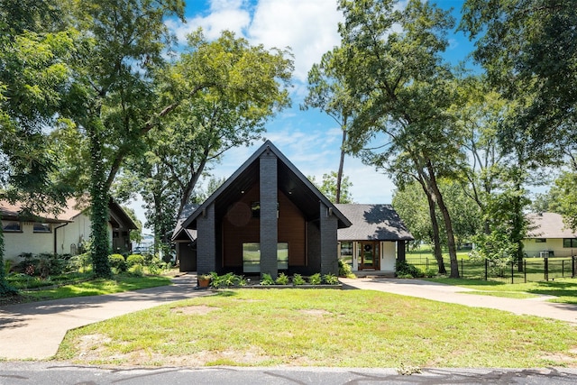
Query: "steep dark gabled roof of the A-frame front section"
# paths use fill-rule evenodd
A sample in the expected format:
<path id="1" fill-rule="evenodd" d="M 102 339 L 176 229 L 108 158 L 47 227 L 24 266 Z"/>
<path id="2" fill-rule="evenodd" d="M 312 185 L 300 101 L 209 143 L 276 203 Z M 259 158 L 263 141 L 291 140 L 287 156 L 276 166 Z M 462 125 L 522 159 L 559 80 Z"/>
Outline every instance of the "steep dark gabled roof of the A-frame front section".
<path id="1" fill-rule="evenodd" d="M 343 215 L 307 177 L 305 177 L 272 142 L 264 142 L 252 156 L 229 178 L 224 184 L 197 207 L 197 209 L 183 222 L 183 228 L 196 228 L 196 220 L 206 207 L 215 204 L 217 215 L 224 215 L 227 207 L 240 200 L 243 193 L 248 191 L 260 180 L 259 157 L 265 151 L 272 151 L 278 158 L 278 188 L 293 201 L 306 216 L 307 221 L 318 219 L 319 202 L 333 211 L 338 219 L 338 227 L 348 227 L 351 222 Z"/>

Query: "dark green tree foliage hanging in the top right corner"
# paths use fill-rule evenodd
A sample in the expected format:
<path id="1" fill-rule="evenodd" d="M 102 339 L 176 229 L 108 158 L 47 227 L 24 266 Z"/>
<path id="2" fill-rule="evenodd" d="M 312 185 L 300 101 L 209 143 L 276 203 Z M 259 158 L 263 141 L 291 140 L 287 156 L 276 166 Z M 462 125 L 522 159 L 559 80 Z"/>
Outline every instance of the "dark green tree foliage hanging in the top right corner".
<path id="1" fill-rule="evenodd" d="M 463 31 L 492 85 L 516 102 L 508 125 L 539 156 L 577 137 L 577 13 L 573 0 L 467 0 Z"/>

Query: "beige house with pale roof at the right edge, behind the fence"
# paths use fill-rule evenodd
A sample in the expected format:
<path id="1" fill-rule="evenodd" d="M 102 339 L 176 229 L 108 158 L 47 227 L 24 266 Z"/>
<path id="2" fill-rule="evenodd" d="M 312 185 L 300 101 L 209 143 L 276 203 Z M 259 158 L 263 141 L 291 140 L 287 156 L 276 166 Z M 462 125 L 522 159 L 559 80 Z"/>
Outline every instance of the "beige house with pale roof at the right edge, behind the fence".
<path id="1" fill-rule="evenodd" d="M 529 231 L 523 241 L 527 257 L 570 257 L 577 255 L 577 233 L 567 228 L 556 213 L 527 215 Z"/>

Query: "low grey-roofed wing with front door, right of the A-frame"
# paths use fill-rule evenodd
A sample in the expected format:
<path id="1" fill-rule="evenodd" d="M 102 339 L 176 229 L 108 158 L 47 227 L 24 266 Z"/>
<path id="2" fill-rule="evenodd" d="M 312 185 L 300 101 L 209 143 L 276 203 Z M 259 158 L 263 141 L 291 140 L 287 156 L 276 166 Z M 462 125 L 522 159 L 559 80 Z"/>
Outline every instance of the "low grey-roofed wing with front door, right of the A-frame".
<path id="1" fill-rule="evenodd" d="M 335 205 L 353 223 L 339 229 L 339 255 L 353 271 L 395 272 L 413 236 L 390 205 Z"/>

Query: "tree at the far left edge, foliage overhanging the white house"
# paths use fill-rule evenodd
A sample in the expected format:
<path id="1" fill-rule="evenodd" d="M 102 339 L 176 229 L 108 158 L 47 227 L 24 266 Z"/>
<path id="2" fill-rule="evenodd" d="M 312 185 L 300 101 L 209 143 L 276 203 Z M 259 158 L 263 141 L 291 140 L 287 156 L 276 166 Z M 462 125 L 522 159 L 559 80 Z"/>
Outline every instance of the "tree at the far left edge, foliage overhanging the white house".
<path id="1" fill-rule="evenodd" d="M 55 156 L 45 129 L 66 92 L 74 32 L 59 32 L 56 2 L 0 3 L 0 199 L 20 202 L 22 215 L 58 212 L 68 190 L 52 179 Z M 0 226 L 0 295 L 5 282 Z"/>

